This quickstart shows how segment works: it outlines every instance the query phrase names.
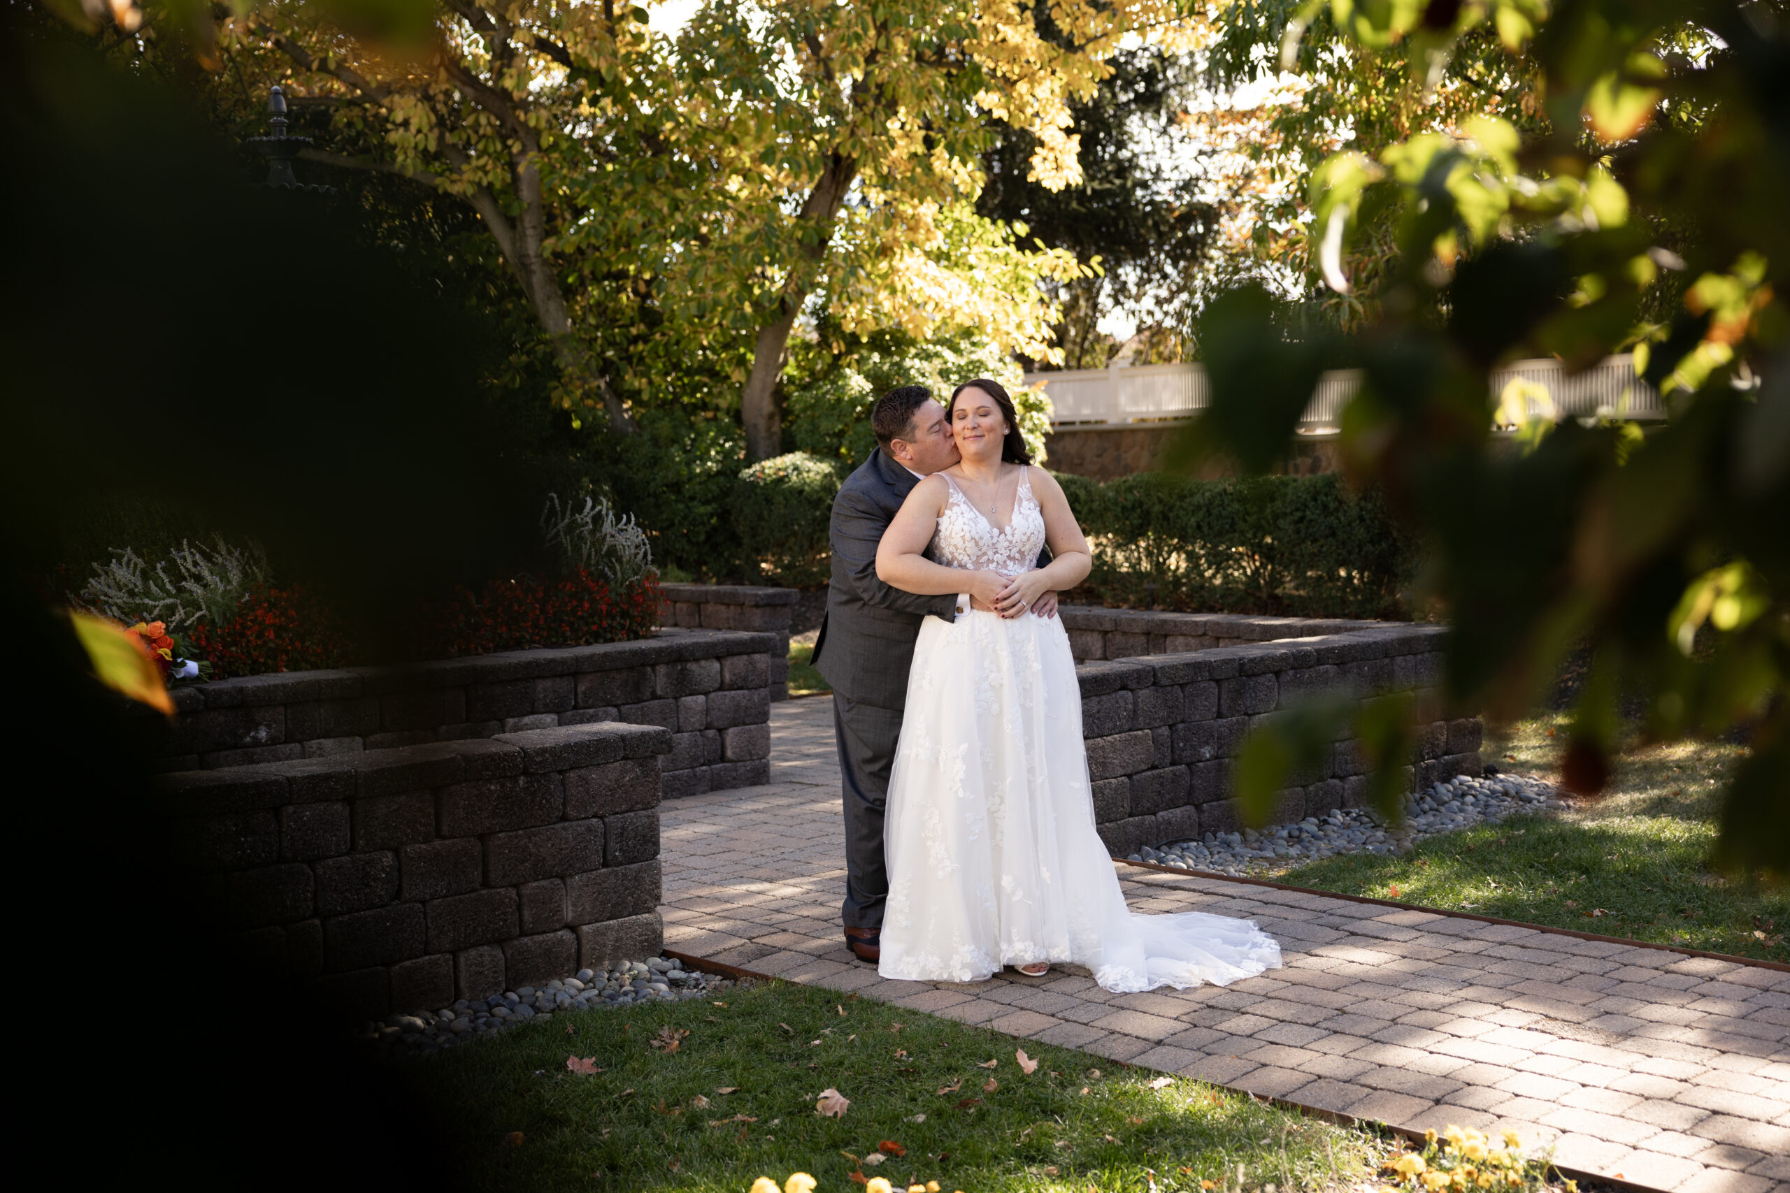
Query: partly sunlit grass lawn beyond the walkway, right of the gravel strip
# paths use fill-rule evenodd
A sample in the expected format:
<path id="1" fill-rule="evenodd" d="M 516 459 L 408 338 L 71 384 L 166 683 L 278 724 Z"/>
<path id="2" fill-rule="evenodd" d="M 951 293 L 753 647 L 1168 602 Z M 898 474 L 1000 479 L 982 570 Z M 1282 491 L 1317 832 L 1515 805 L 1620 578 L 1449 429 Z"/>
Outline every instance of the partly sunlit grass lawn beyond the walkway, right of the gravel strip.
<path id="1" fill-rule="evenodd" d="M 1484 757 L 1557 782 L 1563 717 L 1487 737 Z M 1602 935 L 1790 960 L 1790 891 L 1709 871 L 1717 791 L 1740 748 L 1629 749 L 1600 800 L 1554 817 L 1513 817 L 1430 837 L 1403 857 L 1332 857 L 1280 880 Z"/>

